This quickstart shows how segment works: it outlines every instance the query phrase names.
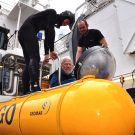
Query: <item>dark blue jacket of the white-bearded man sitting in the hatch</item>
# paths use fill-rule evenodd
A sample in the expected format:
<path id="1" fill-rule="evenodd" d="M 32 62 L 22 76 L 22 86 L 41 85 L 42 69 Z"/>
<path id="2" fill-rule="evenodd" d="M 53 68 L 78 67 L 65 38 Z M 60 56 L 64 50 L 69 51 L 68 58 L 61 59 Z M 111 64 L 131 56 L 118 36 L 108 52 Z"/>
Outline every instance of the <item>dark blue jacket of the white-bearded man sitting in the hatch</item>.
<path id="1" fill-rule="evenodd" d="M 50 87 L 55 87 L 60 85 L 58 80 L 58 70 L 56 70 L 53 74 L 51 74 L 49 80 L 50 80 Z M 76 78 L 74 76 L 74 73 L 66 74 L 63 70 L 61 70 L 61 84 L 66 84 L 75 81 Z"/>

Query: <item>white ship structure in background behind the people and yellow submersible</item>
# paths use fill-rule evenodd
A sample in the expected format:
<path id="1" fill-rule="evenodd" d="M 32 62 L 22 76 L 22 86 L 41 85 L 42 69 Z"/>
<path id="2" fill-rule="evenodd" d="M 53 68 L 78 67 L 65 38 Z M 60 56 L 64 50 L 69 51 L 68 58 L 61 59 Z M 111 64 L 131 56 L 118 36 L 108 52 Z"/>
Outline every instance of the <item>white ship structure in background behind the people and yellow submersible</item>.
<path id="1" fill-rule="evenodd" d="M 4 8 L 1 9 L 1 22 L 0 26 L 9 30 L 9 41 L 7 44 L 7 50 L 0 50 L 1 68 L 4 61 L 16 61 L 16 68 L 21 68 L 24 65 L 22 49 L 17 41 L 17 30 L 23 23 L 23 21 L 31 14 L 37 13 L 42 9 L 35 8 L 38 1 L 17 1 L 10 10 Z M 41 4 L 40 4 L 41 5 Z M 49 8 L 44 6 L 43 8 Z M 130 10 L 129 10 L 130 9 Z M 99 29 L 105 36 L 109 50 L 112 52 L 116 59 L 116 73 L 114 81 L 121 83 L 125 88 L 133 87 L 134 85 L 134 57 L 135 57 L 135 2 L 134 0 L 87 0 L 82 3 L 75 11 L 76 22 L 70 33 L 64 35 L 55 42 L 55 51 L 59 57 L 70 55 L 75 63 L 75 54 L 78 42 L 78 30 L 77 22 L 79 19 L 85 18 L 90 28 Z M 26 14 L 27 12 L 27 14 Z M 41 58 L 44 56 L 43 38 L 39 41 Z M 13 59 L 13 60 L 12 60 Z M 15 60 L 14 60 L 15 59 Z M 19 59 L 19 60 L 18 60 Z M 20 60 L 21 59 L 21 60 Z M 19 61 L 19 63 L 18 63 Z M 9 62 L 10 63 L 10 62 Z M 15 65 L 16 65 L 15 64 Z M 41 63 L 42 65 L 42 63 Z M 4 66 L 10 67 L 4 64 Z M 12 66 L 11 66 L 12 67 Z M 40 77 L 42 79 L 48 78 L 48 75 L 58 69 L 58 61 L 50 61 L 48 65 L 41 66 L 42 69 Z M 19 69 L 18 68 L 18 69 Z M 7 76 L 9 82 L 12 82 L 12 75 L 18 69 L 8 68 Z M 21 71 L 20 70 L 20 71 Z M 10 72 L 11 71 L 11 72 Z M 122 78 L 122 79 L 121 79 Z M 124 78 L 124 79 L 123 79 Z M 42 80 L 41 79 L 41 80 Z M 1 70 L 2 83 L 3 73 Z M 21 80 L 20 80 L 21 82 Z M 12 82 L 13 83 L 13 82 Z M 9 87 L 8 83 L 8 87 Z M 12 88 L 10 88 L 12 89 Z M 13 91 L 12 91 L 13 92 Z"/>

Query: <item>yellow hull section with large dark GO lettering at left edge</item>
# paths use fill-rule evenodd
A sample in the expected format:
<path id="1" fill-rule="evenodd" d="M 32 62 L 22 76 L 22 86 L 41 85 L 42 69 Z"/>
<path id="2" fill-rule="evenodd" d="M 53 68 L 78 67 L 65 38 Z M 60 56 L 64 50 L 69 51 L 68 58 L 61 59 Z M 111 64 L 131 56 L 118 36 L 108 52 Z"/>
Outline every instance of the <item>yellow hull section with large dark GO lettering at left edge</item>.
<path id="1" fill-rule="evenodd" d="M 28 97 L 14 97 L 8 102 L 0 103 L 0 135 L 21 135 L 20 110 Z"/>

